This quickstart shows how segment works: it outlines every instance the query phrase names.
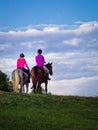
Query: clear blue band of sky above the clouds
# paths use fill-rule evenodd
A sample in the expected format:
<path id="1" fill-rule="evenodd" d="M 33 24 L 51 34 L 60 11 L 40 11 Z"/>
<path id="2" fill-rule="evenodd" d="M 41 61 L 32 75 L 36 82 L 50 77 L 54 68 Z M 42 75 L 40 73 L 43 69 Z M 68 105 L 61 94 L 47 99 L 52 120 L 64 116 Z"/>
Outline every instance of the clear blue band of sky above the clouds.
<path id="1" fill-rule="evenodd" d="M 0 0 L 0 27 L 95 21 L 97 0 Z"/>

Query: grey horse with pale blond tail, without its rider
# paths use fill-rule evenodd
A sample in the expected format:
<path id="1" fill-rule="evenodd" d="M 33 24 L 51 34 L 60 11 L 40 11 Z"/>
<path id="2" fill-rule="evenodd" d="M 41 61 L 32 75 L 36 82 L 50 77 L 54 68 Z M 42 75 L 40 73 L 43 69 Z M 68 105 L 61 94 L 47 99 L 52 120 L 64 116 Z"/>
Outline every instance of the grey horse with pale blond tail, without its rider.
<path id="1" fill-rule="evenodd" d="M 26 93 L 28 93 L 28 75 L 22 69 L 15 69 L 12 72 L 13 91 L 19 93 L 25 92 L 24 85 L 26 85 Z"/>

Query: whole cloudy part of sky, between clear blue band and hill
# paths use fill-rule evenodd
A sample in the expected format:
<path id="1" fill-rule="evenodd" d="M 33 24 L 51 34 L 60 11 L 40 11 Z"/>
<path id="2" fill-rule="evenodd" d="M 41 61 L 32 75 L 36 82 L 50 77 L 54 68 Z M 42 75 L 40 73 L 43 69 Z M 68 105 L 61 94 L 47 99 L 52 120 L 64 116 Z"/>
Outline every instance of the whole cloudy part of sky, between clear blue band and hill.
<path id="1" fill-rule="evenodd" d="M 20 52 L 26 55 L 32 68 L 37 49 L 41 48 L 46 62 L 53 62 L 50 92 L 91 95 L 88 89 L 98 84 L 98 22 L 68 27 L 29 25 L 17 31 L 0 32 L 0 70 L 11 74 Z M 93 90 L 92 95 L 96 91 Z"/>

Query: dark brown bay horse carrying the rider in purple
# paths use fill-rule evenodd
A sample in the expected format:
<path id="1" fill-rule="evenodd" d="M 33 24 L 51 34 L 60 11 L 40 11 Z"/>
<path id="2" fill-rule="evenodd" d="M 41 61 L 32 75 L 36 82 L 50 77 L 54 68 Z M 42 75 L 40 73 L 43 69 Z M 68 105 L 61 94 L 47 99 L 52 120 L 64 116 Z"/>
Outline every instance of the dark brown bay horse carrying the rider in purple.
<path id="1" fill-rule="evenodd" d="M 49 74 L 53 75 L 52 63 L 48 63 L 45 66 L 48 68 Z M 31 89 L 34 88 L 34 93 L 36 92 L 36 88 L 38 93 L 38 89 L 41 88 L 41 84 L 45 83 L 45 93 L 47 94 L 48 75 L 46 74 L 43 67 L 34 66 L 31 69 L 31 79 L 33 84 Z"/>

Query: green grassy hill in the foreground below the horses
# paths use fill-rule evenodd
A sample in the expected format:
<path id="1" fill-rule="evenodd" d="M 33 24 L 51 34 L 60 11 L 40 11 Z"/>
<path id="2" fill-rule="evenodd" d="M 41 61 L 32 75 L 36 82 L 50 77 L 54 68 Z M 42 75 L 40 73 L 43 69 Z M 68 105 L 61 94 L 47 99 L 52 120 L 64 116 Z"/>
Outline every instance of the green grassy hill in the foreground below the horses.
<path id="1" fill-rule="evenodd" d="M 98 97 L 0 92 L 0 130 L 98 130 Z"/>

